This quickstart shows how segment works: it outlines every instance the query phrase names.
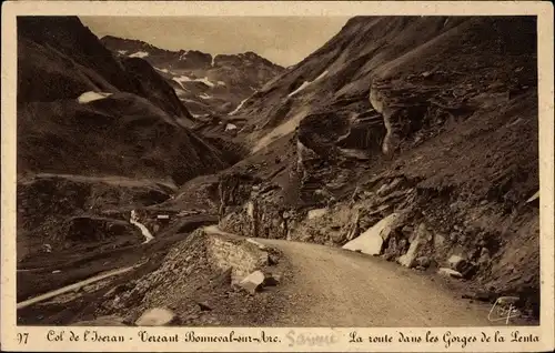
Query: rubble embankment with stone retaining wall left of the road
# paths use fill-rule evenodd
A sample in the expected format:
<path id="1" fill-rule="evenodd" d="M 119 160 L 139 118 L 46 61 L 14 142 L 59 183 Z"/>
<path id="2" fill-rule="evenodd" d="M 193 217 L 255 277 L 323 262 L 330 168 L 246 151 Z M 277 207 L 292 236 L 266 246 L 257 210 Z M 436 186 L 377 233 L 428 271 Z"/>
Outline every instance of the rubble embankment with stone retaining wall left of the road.
<path id="1" fill-rule="evenodd" d="M 243 239 L 206 232 L 194 231 L 172 246 L 158 269 L 107 292 L 97 315 L 117 314 L 138 325 L 253 320 L 258 309 L 251 294 L 279 282 L 275 272 L 283 271 L 278 266 L 280 253 Z M 258 271 L 262 283 L 245 291 L 243 286 L 254 281 Z M 250 276 L 252 273 L 256 275 Z M 261 310 L 265 311 L 263 305 Z"/>

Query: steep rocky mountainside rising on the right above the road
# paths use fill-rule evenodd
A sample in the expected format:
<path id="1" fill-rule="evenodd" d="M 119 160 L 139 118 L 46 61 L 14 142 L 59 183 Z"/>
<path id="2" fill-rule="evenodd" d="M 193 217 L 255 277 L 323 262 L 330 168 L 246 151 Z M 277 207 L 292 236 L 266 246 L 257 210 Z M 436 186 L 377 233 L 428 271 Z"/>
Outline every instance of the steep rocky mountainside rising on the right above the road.
<path id="1" fill-rule="evenodd" d="M 537 311 L 535 26 L 350 20 L 239 111 L 252 154 L 232 170 L 263 181 L 222 180 L 221 226 L 343 245 L 396 213 L 379 254 Z"/>

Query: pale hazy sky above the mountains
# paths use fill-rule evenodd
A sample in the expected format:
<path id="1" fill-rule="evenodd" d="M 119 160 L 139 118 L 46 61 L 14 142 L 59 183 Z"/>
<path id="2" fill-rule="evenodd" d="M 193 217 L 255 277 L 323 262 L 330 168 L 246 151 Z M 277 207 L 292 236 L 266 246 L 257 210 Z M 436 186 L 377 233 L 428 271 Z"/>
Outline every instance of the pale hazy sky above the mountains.
<path id="1" fill-rule="evenodd" d="M 335 36 L 345 17 L 80 17 L 99 38 L 139 39 L 168 50 L 245 51 L 287 67 Z"/>

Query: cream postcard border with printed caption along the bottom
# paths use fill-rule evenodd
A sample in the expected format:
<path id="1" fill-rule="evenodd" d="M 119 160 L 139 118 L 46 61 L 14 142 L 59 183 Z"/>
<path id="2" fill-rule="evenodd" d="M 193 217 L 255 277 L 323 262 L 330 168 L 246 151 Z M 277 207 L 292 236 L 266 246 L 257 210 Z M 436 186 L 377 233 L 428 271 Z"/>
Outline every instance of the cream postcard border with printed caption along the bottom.
<path id="1" fill-rule="evenodd" d="M 541 326 L 522 327 L 62 327 L 16 325 L 16 89 L 17 16 L 537 16 L 539 173 L 541 173 Z M 1 336 L 8 351 L 94 351 L 94 352 L 541 352 L 554 347 L 554 114 L 553 114 L 553 4 L 539 1 L 17 1 L 2 6 L 2 184 L 1 184 Z M 89 331 L 121 335 L 124 342 L 84 341 Z M 140 332 L 179 335 L 180 342 L 141 342 Z M 215 342 L 184 342 L 188 332 L 198 336 L 219 336 Z M 393 336 L 393 342 L 349 343 L 350 333 L 361 336 Z M 514 332 L 521 342 L 512 342 Z M 61 334 L 63 332 L 63 334 Z M 232 333 L 233 332 L 233 333 Z M 280 342 L 226 343 L 231 334 L 279 336 Z M 304 335 L 304 344 L 294 343 Z M 421 336 L 420 343 L 398 342 L 398 333 Z M 426 342 L 426 333 L 440 337 Z M 56 341 L 56 336 L 63 340 Z M 448 346 L 444 337 L 458 337 Z M 50 337 L 50 340 L 49 340 Z M 503 340 L 502 340 L 503 337 Z M 260 341 L 260 340 L 259 340 Z M 311 344 L 312 343 L 312 344 Z"/>

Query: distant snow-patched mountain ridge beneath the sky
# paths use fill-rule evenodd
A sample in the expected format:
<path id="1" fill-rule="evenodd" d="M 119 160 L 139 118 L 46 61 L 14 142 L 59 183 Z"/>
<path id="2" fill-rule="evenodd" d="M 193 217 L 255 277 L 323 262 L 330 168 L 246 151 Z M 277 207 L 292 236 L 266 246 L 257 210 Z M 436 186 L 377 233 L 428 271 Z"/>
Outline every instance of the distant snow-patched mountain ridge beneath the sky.
<path id="1" fill-rule="evenodd" d="M 228 114 L 285 69 L 252 51 L 211 54 L 168 50 L 142 40 L 104 36 L 100 41 L 120 58 L 147 60 L 175 89 L 194 115 Z"/>

